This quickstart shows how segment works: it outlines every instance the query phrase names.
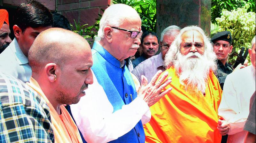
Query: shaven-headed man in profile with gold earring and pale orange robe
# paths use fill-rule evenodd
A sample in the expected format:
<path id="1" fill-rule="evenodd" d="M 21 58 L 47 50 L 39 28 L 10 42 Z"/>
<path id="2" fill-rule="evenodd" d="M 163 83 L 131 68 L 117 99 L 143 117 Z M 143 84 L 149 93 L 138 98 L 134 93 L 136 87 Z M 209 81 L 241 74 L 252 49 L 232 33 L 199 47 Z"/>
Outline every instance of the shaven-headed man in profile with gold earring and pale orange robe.
<path id="1" fill-rule="evenodd" d="M 62 104 L 79 102 L 88 84 L 93 83 L 88 42 L 72 31 L 50 28 L 36 37 L 28 61 L 32 77 L 27 84 L 50 108 L 55 142 L 82 142 L 76 124 Z"/>

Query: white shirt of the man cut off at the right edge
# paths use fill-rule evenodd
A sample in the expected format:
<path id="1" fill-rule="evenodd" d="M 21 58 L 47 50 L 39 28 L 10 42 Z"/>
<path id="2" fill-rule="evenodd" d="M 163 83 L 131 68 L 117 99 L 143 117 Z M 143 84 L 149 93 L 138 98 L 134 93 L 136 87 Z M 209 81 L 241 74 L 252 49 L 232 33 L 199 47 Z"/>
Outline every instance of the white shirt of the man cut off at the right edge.
<path id="1" fill-rule="evenodd" d="M 227 76 L 218 111 L 219 116 L 230 123 L 228 143 L 244 143 L 246 131 L 243 128 L 254 91 L 255 70 L 252 65 Z"/>

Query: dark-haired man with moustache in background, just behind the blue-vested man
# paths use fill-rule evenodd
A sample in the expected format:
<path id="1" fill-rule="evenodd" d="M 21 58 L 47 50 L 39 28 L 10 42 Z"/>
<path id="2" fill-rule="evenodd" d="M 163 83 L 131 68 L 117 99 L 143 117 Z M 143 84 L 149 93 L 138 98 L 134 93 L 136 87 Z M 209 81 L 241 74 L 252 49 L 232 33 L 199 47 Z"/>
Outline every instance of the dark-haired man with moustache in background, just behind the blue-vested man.
<path id="1" fill-rule="evenodd" d="M 146 59 L 156 55 L 159 47 L 156 33 L 150 31 L 143 33 L 140 47 L 142 48 L 142 55 L 132 61 L 133 68 L 135 68 L 138 64 L 145 61 Z"/>

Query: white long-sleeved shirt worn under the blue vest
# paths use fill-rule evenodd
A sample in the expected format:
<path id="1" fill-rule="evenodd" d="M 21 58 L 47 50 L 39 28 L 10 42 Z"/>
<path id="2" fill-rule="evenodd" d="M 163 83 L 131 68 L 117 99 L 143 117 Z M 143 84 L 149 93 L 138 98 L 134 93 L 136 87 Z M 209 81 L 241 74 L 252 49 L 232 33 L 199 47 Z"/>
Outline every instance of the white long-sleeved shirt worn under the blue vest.
<path id="1" fill-rule="evenodd" d="M 70 105 L 76 125 L 90 143 L 106 143 L 123 136 L 141 120 L 149 122 L 151 112 L 140 97 L 113 113 L 104 89 L 93 73 L 93 84 L 77 104 Z"/>

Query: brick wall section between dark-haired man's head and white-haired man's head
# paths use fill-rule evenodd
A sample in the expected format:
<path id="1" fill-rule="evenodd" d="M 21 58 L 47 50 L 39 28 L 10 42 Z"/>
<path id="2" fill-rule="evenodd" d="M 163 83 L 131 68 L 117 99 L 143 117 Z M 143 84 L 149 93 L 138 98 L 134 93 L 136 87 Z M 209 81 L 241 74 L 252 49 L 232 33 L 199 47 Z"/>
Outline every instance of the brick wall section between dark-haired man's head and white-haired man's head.
<path id="1" fill-rule="evenodd" d="M 57 0 L 58 13 L 67 17 L 71 24 L 80 22 L 81 25 L 94 25 L 101 9 L 106 9 L 110 0 Z"/>

